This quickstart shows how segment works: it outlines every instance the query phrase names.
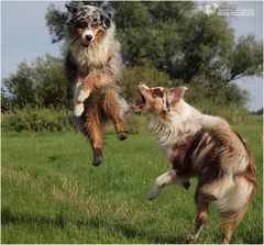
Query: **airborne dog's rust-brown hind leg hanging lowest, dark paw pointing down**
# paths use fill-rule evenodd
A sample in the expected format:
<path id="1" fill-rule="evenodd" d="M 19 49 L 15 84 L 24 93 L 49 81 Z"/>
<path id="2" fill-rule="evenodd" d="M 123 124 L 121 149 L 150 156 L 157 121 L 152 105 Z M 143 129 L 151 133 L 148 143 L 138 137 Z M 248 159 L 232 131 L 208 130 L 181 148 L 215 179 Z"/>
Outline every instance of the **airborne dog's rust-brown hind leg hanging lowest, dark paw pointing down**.
<path id="1" fill-rule="evenodd" d="M 99 120 L 98 107 L 91 102 L 86 103 L 86 131 L 94 151 L 94 166 L 102 163 L 102 125 Z"/>

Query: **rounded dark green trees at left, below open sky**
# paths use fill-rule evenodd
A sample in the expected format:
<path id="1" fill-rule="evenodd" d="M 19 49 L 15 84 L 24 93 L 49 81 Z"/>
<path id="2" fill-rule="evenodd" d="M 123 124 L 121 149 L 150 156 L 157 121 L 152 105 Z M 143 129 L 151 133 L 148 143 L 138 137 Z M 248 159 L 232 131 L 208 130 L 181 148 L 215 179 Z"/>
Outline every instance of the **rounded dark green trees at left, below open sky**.
<path id="1" fill-rule="evenodd" d="M 72 85 L 64 76 L 63 60 L 51 55 L 37 57 L 31 65 L 20 63 L 18 71 L 2 83 L 7 105 L 63 108 L 72 104 Z"/>

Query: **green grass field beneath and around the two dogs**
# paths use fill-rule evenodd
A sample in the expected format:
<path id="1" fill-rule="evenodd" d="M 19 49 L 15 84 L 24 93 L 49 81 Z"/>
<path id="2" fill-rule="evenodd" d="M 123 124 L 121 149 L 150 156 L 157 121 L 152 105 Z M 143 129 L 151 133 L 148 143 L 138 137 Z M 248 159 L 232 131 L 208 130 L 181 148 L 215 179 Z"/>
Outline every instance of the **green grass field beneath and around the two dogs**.
<path id="1" fill-rule="evenodd" d="M 237 126 L 257 163 L 257 193 L 232 243 L 263 243 L 262 124 Z M 2 243 L 185 243 L 195 221 L 194 192 L 168 187 L 145 194 L 169 168 L 142 130 L 119 142 L 108 133 L 105 163 L 90 165 L 79 133 L 2 133 Z M 218 243 L 213 207 L 197 243 Z"/>

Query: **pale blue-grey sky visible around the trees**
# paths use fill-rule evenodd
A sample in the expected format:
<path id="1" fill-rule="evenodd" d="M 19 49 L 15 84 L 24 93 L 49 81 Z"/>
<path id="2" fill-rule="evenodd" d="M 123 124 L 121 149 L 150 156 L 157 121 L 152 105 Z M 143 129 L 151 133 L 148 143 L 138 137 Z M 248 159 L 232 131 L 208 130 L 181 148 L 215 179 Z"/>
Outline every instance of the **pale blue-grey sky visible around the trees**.
<path id="1" fill-rule="evenodd" d="M 22 60 L 31 63 L 36 56 L 46 53 L 59 55 L 62 44 L 52 44 L 44 20 L 51 3 L 61 10 L 65 9 L 65 1 L 1 1 L 1 78 L 15 73 L 18 64 Z M 219 1 L 198 2 L 200 3 L 219 4 Z M 253 11 L 253 15 L 231 19 L 235 37 L 254 34 L 256 40 L 263 40 L 262 1 L 230 1 L 229 4 L 240 10 Z M 250 92 L 250 110 L 263 107 L 262 78 L 242 78 L 235 83 Z"/>

